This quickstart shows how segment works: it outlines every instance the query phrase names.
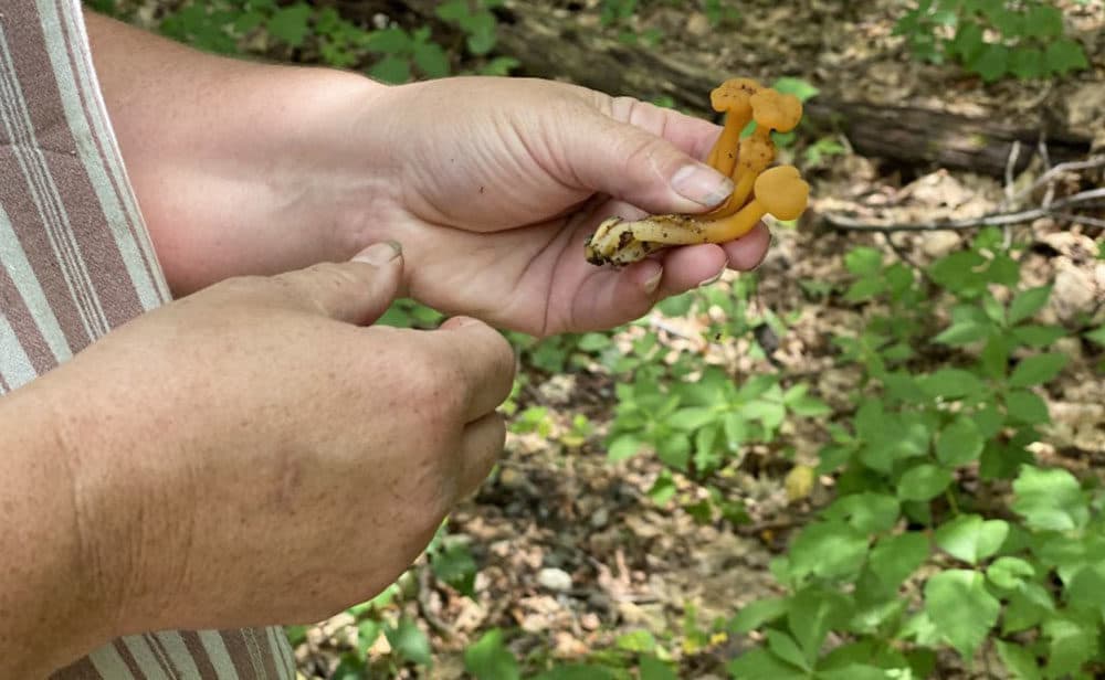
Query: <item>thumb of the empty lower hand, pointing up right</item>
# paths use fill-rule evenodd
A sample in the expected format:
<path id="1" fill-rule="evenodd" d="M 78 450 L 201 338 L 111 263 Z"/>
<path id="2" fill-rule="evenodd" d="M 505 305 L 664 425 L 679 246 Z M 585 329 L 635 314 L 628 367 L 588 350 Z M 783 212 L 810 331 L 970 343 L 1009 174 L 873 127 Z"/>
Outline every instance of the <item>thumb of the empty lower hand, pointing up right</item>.
<path id="1" fill-rule="evenodd" d="M 320 263 L 278 276 L 293 288 L 290 297 L 309 311 L 338 321 L 367 326 L 387 311 L 402 283 L 402 247 L 376 243 L 346 263 Z"/>

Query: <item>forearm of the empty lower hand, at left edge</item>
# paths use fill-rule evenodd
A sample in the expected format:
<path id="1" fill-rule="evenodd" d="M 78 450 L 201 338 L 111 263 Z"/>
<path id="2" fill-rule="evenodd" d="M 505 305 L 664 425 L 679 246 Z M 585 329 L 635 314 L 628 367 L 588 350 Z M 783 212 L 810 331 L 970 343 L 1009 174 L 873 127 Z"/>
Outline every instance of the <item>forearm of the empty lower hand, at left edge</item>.
<path id="1" fill-rule="evenodd" d="M 75 480 L 51 400 L 33 383 L 0 397 L 2 678 L 44 677 L 112 637 L 87 544 L 96 528 L 80 510 L 90 490 Z"/>

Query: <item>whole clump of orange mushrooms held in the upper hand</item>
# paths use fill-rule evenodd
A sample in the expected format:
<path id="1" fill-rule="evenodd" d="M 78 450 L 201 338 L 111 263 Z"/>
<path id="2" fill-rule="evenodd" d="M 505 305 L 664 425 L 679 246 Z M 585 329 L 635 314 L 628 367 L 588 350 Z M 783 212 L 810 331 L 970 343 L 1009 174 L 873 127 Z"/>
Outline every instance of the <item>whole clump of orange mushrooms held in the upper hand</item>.
<path id="1" fill-rule="evenodd" d="M 797 220 L 809 200 L 807 184 L 793 166 L 768 168 L 775 160 L 771 131 L 789 132 L 802 117 L 802 104 L 756 81 L 734 78 L 711 93 L 711 104 L 725 111 L 725 127 L 707 163 L 733 178 L 734 190 L 719 206 L 704 214 L 650 215 L 602 222 L 586 244 L 596 265 L 628 265 L 672 245 L 725 243 L 744 236 L 766 214 Z M 750 120 L 751 135 L 740 138 Z"/>

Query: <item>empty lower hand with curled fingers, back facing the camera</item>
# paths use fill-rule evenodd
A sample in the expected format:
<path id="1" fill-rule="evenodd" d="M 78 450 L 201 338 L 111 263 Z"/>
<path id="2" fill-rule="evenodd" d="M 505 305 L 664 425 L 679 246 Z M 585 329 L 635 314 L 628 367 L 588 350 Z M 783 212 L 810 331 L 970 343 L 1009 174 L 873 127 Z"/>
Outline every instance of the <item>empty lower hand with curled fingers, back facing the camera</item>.
<path id="1" fill-rule="evenodd" d="M 393 254 L 229 279 L 23 392 L 62 415 L 77 517 L 56 530 L 82 532 L 113 635 L 333 615 L 488 472 L 511 348 L 474 319 L 366 327 L 400 285 Z"/>

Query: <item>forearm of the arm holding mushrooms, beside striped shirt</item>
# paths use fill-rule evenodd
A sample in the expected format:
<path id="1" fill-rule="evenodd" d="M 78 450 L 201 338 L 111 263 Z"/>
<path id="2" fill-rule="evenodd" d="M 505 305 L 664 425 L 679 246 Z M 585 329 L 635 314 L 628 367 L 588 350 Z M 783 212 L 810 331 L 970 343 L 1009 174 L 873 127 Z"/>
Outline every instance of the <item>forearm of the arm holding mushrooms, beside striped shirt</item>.
<path id="1" fill-rule="evenodd" d="M 380 177 L 326 179 L 341 160 L 326 151 L 355 138 L 349 126 L 386 86 L 213 56 L 86 18 L 113 127 L 175 293 L 344 259 L 362 245 L 335 216 L 341 196 L 328 194 L 362 203 L 390 189 Z M 322 182 L 326 191 L 314 185 Z"/>

